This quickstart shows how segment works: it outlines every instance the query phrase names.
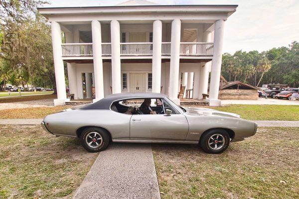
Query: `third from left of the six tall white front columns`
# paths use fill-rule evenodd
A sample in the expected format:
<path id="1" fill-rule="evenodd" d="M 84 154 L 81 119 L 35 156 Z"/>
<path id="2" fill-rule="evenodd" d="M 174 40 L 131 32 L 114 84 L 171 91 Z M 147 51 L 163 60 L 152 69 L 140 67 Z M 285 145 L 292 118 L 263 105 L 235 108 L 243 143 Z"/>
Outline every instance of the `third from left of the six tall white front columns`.
<path id="1" fill-rule="evenodd" d="M 121 47 L 120 23 L 111 21 L 111 65 L 112 65 L 112 92 L 121 93 Z"/>

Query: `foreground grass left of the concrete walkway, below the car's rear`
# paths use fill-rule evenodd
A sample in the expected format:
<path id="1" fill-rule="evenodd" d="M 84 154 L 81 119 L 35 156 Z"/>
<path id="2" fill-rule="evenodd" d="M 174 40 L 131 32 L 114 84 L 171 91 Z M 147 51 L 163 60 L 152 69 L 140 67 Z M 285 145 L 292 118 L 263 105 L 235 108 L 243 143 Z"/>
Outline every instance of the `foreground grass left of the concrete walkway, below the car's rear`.
<path id="1" fill-rule="evenodd" d="M 40 126 L 0 126 L 0 199 L 71 198 L 96 157 Z"/>

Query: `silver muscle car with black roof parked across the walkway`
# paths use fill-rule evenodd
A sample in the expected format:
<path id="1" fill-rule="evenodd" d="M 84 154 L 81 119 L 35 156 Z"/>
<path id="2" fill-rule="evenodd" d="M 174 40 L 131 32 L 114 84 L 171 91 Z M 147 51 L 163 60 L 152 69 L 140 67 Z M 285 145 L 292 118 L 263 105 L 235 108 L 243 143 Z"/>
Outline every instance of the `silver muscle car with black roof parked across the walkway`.
<path id="1" fill-rule="evenodd" d="M 110 95 L 48 115 L 41 125 L 50 134 L 79 138 L 89 152 L 103 151 L 110 142 L 141 142 L 200 144 L 216 154 L 257 131 L 256 123 L 237 114 L 182 108 L 159 93 Z"/>

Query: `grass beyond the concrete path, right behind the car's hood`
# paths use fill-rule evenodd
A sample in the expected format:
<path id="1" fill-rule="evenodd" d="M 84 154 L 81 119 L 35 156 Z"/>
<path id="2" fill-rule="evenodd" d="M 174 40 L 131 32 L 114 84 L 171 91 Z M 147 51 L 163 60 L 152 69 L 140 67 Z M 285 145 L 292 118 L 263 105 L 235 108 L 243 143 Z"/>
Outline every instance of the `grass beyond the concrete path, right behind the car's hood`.
<path id="1" fill-rule="evenodd" d="M 298 105 L 229 105 L 206 107 L 241 115 L 247 120 L 299 120 Z"/>

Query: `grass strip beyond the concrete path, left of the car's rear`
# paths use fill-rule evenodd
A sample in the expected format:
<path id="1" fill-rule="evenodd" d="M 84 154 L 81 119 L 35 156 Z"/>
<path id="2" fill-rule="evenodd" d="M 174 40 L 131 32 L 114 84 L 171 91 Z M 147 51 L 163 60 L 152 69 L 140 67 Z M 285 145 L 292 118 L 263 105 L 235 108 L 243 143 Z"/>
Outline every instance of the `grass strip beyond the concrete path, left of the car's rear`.
<path id="1" fill-rule="evenodd" d="M 73 106 L 53 106 L 1 110 L 0 119 L 38 119 Z"/>

